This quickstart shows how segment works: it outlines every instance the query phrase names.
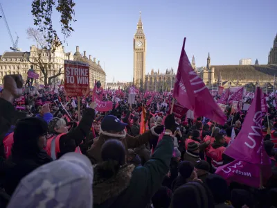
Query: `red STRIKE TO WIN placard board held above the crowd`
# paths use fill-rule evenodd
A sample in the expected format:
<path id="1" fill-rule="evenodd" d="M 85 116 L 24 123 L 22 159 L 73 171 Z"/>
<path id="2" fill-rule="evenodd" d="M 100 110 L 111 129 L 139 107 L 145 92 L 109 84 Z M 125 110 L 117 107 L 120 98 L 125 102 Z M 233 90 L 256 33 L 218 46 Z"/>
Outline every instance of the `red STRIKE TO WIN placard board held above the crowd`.
<path id="1" fill-rule="evenodd" d="M 89 94 L 89 64 L 64 60 L 64 91 L 66 96 Z"/>

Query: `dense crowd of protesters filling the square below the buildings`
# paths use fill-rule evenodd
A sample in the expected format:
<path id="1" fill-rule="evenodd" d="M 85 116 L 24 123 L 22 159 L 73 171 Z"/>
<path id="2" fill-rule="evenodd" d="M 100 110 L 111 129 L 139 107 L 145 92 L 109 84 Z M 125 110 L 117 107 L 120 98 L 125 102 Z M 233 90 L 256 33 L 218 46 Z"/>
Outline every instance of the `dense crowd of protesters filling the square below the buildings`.
<path id="1" fill-rule="evenodd" d="M 247 112 L 226 107 L 228 119 L 219 125 L 178 118 L 168 94 L 137 94 L 130 105 L 120 92 L 108 112 L 83 98 L 79 121 L 63 90 L 23 92 L 20 75 L 3 83 L 0 207 L 277 207 L 277 112 L 270 101 L 262 131 L 272 175 L 256 189 L 215 174 L 233 161 L 224 150 Z M 113 94 L 102 101 L 114 101 Z"/>

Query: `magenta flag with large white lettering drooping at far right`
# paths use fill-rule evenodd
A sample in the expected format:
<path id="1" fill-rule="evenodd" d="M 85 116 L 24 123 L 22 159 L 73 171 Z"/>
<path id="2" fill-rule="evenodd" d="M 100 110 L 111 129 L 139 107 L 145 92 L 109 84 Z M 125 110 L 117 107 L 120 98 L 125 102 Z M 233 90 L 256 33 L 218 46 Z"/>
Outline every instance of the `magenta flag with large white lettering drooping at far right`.
<path id="1" fill-rule="evenodd" d="M 262 140 L 260 87 L 257 87 L 254 100 L 242 124 L 242 130 L 224 153 L 234 159 L 252 164 L 271 164 Z"/>

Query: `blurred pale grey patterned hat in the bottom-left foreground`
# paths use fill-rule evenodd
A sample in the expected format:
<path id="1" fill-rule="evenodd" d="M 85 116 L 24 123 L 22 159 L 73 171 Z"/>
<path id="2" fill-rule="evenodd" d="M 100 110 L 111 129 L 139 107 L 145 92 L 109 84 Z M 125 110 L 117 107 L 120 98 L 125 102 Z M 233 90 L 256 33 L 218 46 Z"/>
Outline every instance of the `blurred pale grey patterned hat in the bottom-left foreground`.
<path id="1" fill-rule="evenodd" d="M 93 168 L 89 159 L 66 153 L 21 180 L 8 208 L 93 207 Z"/>

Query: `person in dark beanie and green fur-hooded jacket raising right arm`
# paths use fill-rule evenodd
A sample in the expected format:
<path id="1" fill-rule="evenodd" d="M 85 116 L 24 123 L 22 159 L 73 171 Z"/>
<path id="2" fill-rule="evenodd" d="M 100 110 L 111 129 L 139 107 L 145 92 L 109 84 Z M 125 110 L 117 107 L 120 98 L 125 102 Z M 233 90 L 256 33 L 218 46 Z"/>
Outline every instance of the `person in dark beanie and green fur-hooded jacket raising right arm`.
<path id="1" fill-rule="evenodd" d="M 165 125 L 171 128 L 174 115 L 169 116 Z M 146 207 L 168 173 L 173 149 L 172 130 L 166 128 L 152 158 L 136 168 L 133 164 L 125 164 L 127 153 L 123 141 L 107 139 L 101 146 L 102 161 L 94 167 L 93 207 Z"/>

